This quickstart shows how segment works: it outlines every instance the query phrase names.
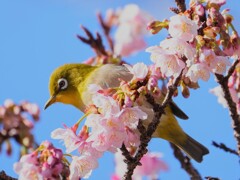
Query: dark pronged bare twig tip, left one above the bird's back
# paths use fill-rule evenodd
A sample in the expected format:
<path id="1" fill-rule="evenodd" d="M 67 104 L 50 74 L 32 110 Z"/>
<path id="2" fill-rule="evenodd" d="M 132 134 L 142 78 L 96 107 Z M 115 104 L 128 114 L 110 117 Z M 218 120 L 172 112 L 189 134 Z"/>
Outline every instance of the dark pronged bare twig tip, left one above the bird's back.
<path id="1" fill-rule="evenodd" d="M 84 38 L 80 35 L 77 35 L 77 38 L 80 39 L 82 42 L 91 46 L 92 49 L 97 54 L 97 56 L 101 56 L 101 55 L 107 56 L 108 54 L 105 51 L 105 48 L 104 48 L 104 45 L 102 43 L 102 38 L 101 38 L 100 34 L 96 33 L 97 37 L 94 38 L 92 33 L 87 28 L 85 28 L 84 26 L 81 26 L 81 28 L 85 32 L 87 38 Z"/>

